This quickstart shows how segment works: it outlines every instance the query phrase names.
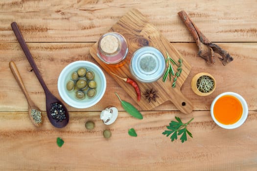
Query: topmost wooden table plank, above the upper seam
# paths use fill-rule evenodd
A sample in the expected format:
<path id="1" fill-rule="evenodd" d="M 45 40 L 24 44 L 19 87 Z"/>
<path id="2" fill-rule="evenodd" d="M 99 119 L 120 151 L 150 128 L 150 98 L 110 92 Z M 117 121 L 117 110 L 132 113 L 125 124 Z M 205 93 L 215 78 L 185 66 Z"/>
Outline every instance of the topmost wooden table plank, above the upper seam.
<path id="1" fill-rule="evenodd" d="M 0 42 L 96 42 L 131 8 L 139 9 L 170 42 L 194 42 L 177 12 L 185 10 L 211 42 L 257 42 L 255 0 L 2 0 Z"/>

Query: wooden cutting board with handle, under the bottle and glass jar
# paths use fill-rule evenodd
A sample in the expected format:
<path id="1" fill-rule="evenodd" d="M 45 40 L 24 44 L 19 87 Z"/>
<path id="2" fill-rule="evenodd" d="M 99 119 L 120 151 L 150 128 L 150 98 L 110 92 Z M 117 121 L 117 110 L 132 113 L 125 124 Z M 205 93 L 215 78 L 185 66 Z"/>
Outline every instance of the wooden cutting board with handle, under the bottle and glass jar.
<path id="1" fill-rule="evenodd" d="M 190 113 L 193 109 L 192 103 L 181 93 L 181 86 L 185 82 L 191 66 L 185 58 L 169 43 L 166 38 L 157 30 L 157 28 L 149 23 L 147 19 L 137 9 L 132 9 L 123 16 L 110 30 L 110 32 L 118 32 L 125 37 L 128 43 L 129 52 L 126 57 L 126 63 L 122 66 L 115 67 L 103 63 L 97 57 L 97 42 L 90 48 L 90 54 L 93 58 L 105 69 L 117 83 L 134 99 L 144 110 L 150 110 L 163 104 L 166 101 L 171 101 L 183 113 Z M 183 59 L 182 73 L 178 77 L 176 87 L 172 88 L 173 79 L 167 80 L 165 83 L 159 79 L 154 83 L 140 83 L 137 81 L 141 90 L 141 100 L 137 101 L 137 94 L 131 85 L 128 85 L 123 80 L 117 78 L 110 72 L 117 74 L 123 78 L 133 78 L 129 71 L 129 62 L 133 53 L 142 46 L 152 46 L 159 49 L 166 58 L 166 51 L 169 56 L 178 63 L 179 58 Z M 174 72 L 177 71 L 177 66 L 173 65 Z M 107 85 L 108 86 L 108 85 Z M 188 85 L 190 86 L 190 85 Z M 144 99 L 146 89 L 158 90 L 157 102 L 148 102 Z M 122 96 L 121 96 L 122 97 Z"/>

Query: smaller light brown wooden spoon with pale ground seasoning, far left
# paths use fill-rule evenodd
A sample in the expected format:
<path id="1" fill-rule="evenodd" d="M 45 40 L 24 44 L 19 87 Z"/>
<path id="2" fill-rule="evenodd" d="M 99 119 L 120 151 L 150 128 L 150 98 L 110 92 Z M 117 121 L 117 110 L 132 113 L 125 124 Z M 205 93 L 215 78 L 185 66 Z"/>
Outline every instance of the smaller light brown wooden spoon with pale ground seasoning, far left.
<path id="1" fill-rule="evenodd" d="M 36 127 L 39 127 L 42 125 L 43 123 L 43 117 L 42 117 L 42 113 L 41 113 L 41 110 L 34 104 L 34 102 L 30 99 L 30 97 L 28 96 L 28 93 L 27 93 L 27 90 L 23 84 L 23 80 L 22 80 L 22 77 L 19 73 L 19 70 L 18 68 L 16 67 L 16 64 L 14 62 L 10 62 L 9 63 L 9 66 L 11 68 L 11 71 L 17 81 L 17 83 L 20 85 L 21 89 L 23 90 L 23 94 L 25 95 L 26 99 L 27 99 L 27 102 L 28 102 L 28 116 L 31 120 L 31 122 L 36 126 Z M 35 119 L 33 118 L 31 112 L 34 111 L 34 110 L 37 110 L 38 113 L 40 113 L 40 116 L 38 116 L 39 119 Z"/>

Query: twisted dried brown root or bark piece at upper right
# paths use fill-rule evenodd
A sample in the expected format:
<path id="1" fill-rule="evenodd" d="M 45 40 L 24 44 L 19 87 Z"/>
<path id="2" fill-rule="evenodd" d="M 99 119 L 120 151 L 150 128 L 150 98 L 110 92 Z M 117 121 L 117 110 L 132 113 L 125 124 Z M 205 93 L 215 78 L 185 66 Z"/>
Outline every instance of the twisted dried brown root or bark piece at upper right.
<path id="1" fill-rule="evenodd" d="M 214 64 L 214 53 L 218 53 L 222 58 L 219 58 L 223 65 L 226 65 L 233 61 L 233 57 L 230 54 L 219 47 L 217 44 L 211 43 L 205 35 L 196 27 L 196 25 L 190 20 L 185 11 L 178 13 L 181 20 L 184 21 L 188 30 L 192 34 L 199 50 L 198 55 L 204 58 L 207 62 Z"/>

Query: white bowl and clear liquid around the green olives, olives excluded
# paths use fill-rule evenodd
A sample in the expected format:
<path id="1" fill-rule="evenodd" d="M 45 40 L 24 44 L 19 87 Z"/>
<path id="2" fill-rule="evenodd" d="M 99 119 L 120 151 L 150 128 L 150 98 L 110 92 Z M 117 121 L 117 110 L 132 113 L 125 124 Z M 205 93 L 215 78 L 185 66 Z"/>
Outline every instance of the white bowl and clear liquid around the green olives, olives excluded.
<path id="1" fill-rule="evenodd" d="M 75 98 L 75 93 L 67 90 L 66 85 L 70 80 L 71 73 L 77 71 L 78 68 L 85 67 L 88 70 L 92 70 L 94 72 L 94 80 L 97 83 L 96 87 L 96 95 L 93 98 L 86 97 L 83 100 L 78 100 Z M 103 71 L 96 65 L 88 61 L 76 61 L 68 64 L 60 73 L 58 78 L 58 91 L 61 98 L 70 105 L 75 108 L 88 108 L 95 105 L 97 102 L 101 100 L 105 93 L 106 89 L 106 78 Z"/>

